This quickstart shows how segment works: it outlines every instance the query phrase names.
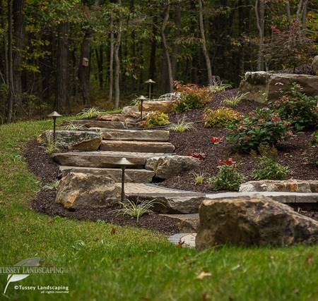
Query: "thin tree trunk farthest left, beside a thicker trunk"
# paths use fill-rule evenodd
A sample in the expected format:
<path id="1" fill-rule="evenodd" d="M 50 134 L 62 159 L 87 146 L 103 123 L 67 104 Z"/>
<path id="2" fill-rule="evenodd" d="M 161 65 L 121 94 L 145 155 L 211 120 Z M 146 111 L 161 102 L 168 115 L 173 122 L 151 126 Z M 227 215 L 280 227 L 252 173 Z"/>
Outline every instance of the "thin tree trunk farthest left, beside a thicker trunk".
<path id="1" fill-rule="evenodd" d="M 6 106 L 6 123 L 11 123 L 13 113 L 12 1 L 8 0 L 8 102 Z"/>

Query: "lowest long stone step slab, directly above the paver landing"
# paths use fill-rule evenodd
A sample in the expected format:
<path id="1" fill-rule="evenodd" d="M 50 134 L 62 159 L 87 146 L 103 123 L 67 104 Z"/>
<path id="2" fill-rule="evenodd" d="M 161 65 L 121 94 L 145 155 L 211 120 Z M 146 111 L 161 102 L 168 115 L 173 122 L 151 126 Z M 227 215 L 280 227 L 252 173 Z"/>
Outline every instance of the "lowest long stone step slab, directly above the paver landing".
<path id="1" fill-rule="evenodd" d="M 120 168 L 100 168 L 100 167 L 80 167 L 80 166 L 59 166 L 58 177 L 63 178 L 70 172 L 93 173 L 96 176 L 106 176 L 115 182 L 122 181 L 122 169 Z M 125 183 L 151 183 L 155 176 L 154 171 L 146 169 L 126 169 Z"/>

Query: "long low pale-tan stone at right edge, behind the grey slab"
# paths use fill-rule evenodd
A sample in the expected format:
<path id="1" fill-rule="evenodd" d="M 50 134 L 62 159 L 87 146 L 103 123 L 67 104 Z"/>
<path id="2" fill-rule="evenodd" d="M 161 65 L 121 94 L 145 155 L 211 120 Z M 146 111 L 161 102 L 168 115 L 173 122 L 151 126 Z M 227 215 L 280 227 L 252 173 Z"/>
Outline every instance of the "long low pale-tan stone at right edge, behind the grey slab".
<path id="1" fill-rule="evenodd" d="M 240 185 L 240 192 L 318 192 L 318 180 L 254 180 Z"/>

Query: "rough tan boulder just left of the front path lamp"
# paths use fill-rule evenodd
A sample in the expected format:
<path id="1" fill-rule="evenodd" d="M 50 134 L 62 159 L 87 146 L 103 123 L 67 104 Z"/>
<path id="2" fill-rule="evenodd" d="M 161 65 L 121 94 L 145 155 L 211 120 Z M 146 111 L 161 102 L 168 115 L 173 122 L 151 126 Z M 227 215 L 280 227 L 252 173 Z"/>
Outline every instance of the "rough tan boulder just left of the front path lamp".
<path id="1" fill-rule="evenodd" d="M 90 173 L 69 173 L 63 178 L 55 201 L 67 209 L 112 207 L 121 199 L 114 180 Z"/>

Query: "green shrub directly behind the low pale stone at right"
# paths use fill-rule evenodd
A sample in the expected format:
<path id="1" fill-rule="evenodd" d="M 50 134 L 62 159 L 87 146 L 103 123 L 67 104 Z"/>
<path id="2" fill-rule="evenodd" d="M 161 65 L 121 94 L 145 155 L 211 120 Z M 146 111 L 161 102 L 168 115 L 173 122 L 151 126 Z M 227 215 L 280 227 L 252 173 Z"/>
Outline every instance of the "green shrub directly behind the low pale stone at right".
<path id="1" fill-rule="evenodd" d="M 288 166 L 277 161 L 278 151 L 270 145 L 259 145 L 259 156 L 252 150 L 251 154 L 257 159 L 257 168 L 252 171 L 254 180 L 285 180 L 292 172 Z"/>

